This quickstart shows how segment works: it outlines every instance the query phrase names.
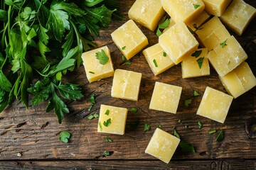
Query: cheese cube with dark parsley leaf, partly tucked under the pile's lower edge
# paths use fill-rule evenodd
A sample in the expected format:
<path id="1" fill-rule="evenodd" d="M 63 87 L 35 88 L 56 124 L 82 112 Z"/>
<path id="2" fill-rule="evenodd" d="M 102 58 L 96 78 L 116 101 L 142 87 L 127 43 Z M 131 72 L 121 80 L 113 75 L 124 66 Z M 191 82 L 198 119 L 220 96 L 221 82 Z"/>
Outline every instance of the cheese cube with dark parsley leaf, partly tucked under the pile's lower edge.
<path id="1" fill-rule="evenodd" d="M 207 48 L 201 48 L 191 55 L 184 57 L 181 62 L 182 78 L 185 79 L 210 75 L 210 66 L 207 55 Z"/>

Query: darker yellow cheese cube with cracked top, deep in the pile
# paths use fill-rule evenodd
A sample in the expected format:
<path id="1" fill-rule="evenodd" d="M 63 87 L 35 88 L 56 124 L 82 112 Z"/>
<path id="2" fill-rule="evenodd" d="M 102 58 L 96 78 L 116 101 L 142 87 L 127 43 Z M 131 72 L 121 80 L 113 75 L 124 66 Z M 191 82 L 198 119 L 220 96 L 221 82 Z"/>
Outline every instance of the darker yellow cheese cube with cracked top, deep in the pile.
<path id="1" fill-rule="evenodd" d="M 201 42 L 201 46 L 208 48 L 209 51 L 230 37 L 230 33 L 228 33 L 228 30 L 217 16 L 203 24 L 196 31 L 196 34 L 198 35 L 199 42 Z"/>

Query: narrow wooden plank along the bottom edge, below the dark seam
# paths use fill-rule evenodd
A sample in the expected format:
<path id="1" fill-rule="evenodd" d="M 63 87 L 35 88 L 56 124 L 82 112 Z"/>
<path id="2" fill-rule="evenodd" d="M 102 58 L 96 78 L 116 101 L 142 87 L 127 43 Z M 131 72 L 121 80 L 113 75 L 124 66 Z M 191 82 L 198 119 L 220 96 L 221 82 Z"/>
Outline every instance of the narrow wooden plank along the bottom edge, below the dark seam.
<path id="1" fill-rule="evenodd" d="M 0 168 L 9 170 L 33 169 L 189 169 L 189 170 L 245 170 L 255 169 L 255 160 L 206 160 L 206 161 L 41 161 L 0 162 Z"/>

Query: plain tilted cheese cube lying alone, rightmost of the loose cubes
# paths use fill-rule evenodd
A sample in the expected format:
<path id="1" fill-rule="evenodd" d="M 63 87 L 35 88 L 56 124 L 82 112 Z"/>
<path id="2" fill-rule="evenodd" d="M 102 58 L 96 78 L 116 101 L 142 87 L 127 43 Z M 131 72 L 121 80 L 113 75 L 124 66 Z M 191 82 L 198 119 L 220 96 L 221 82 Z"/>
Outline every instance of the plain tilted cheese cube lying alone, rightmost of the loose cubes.
<path id="1" fill-rule="evenodd" d="M 222 91 L 206 87 L 197 115 L 224 123 L 228 110 L 233 101 L 233 96 L 224 94 Z"/>

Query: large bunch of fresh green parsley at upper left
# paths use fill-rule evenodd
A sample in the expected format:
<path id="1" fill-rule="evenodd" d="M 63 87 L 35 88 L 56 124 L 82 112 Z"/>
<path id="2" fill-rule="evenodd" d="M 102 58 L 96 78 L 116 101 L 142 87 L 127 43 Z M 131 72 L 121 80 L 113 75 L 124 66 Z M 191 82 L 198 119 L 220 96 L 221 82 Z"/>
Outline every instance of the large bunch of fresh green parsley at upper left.
<path id="1" fill-rule="evenodd" d="M 0 112 L 18 98 L 28 108 L 48 101 L 58 122 L 69 110 L 66 100 L 82 97 L 76 84 L 63 83 L 82 63 L 83 51 L 96 45 L 93 35 L 117 13 L 114 0 L 3 0 L 0 2 Z M 33 83 L 32 82 L 36 82 Z"/>

